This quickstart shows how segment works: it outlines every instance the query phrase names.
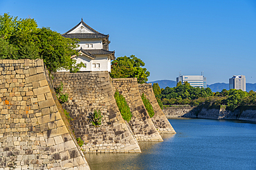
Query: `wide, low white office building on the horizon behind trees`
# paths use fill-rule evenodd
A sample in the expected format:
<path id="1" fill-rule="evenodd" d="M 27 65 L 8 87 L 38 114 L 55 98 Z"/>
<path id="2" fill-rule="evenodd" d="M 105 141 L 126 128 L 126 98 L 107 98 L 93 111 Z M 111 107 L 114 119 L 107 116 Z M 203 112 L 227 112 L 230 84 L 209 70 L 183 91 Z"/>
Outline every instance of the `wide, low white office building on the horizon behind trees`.
<path id="1" fill-rule="evenodd" d="M 204 76 L 179 76 L 176 78 L 176 82 L 179 83 L 179 81 L 181 81 L 182 84 L 188 81 L 192 87 L 207 87 L 206 77 Z"/>

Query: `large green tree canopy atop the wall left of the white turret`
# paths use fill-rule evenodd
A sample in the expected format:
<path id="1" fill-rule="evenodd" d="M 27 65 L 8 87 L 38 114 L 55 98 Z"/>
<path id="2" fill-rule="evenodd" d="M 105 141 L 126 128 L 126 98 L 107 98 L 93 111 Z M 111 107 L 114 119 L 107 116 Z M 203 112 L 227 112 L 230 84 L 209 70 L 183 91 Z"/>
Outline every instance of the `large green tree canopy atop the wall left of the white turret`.
<path id="1" fill-rule="evenodd" d="M 71 56 L 77 54 L 77 39 L 66 39 L 50 28 L 37 28 L 34 19 L 0 15 L 0 59 L 44 59 L 50 72 L 60 68 L 77 71 Z"/>

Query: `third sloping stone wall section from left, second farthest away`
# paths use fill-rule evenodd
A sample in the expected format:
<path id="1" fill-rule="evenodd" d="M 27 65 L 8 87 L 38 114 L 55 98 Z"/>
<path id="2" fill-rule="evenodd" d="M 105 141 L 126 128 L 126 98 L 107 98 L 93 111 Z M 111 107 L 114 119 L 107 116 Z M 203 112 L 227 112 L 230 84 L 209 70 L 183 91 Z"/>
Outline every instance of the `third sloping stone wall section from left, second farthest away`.
<path id="1" fill-rule="evenodd" d="M 140 97 L 137 78 L 113 78 L 113 88 L 125 97 L 133 116 L 129 125 L 138 141 L 163 141 Z"/>

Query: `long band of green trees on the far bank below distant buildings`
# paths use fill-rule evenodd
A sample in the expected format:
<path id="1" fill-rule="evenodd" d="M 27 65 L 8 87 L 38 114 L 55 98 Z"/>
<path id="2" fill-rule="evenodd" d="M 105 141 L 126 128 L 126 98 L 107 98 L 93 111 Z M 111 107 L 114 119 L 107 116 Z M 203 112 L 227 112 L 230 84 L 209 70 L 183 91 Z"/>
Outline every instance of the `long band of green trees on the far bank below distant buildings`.
<path id="1" fill-rule="evenodd" d="M 163 105 L 203 105 L 208 109 L 218 109 L 226 105 L 226 109 L 234 111 L 239 106 L 256 105 L 256 93 L 244 92 L 241 89 L 222 89 L 212 93 L 210 88 L 191 87 L 189 83 L 166 87 L 161 93 Z"/>

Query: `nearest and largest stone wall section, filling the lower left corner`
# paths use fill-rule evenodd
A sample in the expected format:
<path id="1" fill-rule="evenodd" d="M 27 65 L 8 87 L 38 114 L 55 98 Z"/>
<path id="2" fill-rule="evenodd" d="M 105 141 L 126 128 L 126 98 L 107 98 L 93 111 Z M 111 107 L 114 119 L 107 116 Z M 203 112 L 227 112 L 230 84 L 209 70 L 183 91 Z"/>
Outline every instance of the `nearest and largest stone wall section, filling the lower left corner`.
<path id="1" fill-rule="evenodd" d="M 42 60 L 0 60 L 0 169 L 90 169 Z"/>

